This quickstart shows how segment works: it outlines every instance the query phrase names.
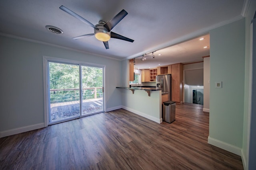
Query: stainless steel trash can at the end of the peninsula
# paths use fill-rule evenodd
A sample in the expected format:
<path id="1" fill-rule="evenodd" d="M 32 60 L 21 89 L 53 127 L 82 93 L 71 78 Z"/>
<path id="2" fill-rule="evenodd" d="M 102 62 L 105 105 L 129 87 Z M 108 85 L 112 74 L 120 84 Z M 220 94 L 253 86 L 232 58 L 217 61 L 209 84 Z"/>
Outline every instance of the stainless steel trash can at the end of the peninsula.
<path id="1" fill-rule="evenodd" d="M 173 101 L 164 102 L 163 121 L 172 123 L 175 121 L 176 103 Z"/>

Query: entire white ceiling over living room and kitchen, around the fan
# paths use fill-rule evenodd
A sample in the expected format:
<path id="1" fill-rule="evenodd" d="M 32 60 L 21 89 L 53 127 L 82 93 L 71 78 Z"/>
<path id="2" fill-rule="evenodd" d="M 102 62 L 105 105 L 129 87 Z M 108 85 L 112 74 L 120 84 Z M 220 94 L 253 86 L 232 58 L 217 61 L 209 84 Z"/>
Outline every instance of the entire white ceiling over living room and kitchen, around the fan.
<path id="1" fill-rule="evenodd" d="M 248 1 L 2 0 L 0 1 L 0 33 L 118 60 L 132 59 L 157 50 L 155 61 L 158 58 L 157 54 L 162 53 L 161 57 L 168 55 L 171 63 L 188 63 L 199 59 L 202 61 L 203 56 L 209 55 L 209 48 L 202 50 L 202 45 L 205 45 L 198 41 L 198 37 L 206 36 L 204 43 L 209 46 L 208 31 L 243 18 Z M 72 39 L 79 35 L 94 33 L 94 29 L 60 10 L 61 5 L 94 25 L 99 20 L 112 19 L 122 9 L 126 10 L 128 15 L 112 31 L 134 39 L 134 42 L 110 39 L 108 42 L 110 49 L 105 49 L 104 44 L 94 36 Z M 61 35 L 51 33 L 45 28 L 46 25 L 58 27 L 64 33 Z M 175 45 L 194 37 L 196 39 L 189 44 Z M 172 47 L 163 49 L 169 46 Z M 162 50 L 158 51 L 158 49 Z M 151 59 L 150 56 L 148 58 Z M 164 64 L 167 61 L 161 62 L 157 64 Z"/>

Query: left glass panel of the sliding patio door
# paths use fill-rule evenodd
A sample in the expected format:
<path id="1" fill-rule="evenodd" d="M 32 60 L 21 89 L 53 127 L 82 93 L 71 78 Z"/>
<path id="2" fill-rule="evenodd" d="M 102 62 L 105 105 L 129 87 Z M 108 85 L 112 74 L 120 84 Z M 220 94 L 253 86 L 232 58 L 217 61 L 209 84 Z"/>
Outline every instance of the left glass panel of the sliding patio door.
<path id="1" fill-rule="evenodd" d="M 79 117 L 79 65 L 49 62 L 49 84 L 49 123 Z"/>

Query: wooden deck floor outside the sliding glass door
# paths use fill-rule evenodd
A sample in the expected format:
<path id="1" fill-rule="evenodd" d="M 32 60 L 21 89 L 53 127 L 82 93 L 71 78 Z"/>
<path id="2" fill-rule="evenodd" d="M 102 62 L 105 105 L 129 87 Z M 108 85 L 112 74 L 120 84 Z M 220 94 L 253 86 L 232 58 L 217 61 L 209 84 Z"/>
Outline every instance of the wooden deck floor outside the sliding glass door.
<path id="1" fill-rule="evenodd" d="M 51 122 L 80 115 L 80 101 L 51 104 Z M 82 115 L 103 111 L 102 98 L 83 100 Z"/>

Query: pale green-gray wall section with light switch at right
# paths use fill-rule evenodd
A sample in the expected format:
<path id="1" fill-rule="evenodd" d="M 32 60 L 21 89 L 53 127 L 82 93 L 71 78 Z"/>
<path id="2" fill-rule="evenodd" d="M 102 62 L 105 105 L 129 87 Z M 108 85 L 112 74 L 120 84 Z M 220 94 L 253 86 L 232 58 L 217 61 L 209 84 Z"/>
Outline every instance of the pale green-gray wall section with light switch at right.
<path id="1" fill-rule="evenodd" d="M 209 138 L 236 149 L 241 149 L 243 142 L 244 21 L 210 31 Z M 222 88 L 215 88 L 220 81 Z"/>

